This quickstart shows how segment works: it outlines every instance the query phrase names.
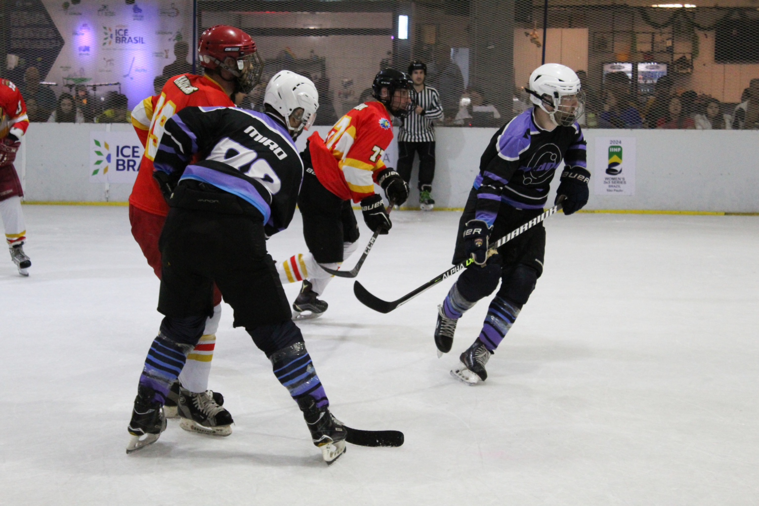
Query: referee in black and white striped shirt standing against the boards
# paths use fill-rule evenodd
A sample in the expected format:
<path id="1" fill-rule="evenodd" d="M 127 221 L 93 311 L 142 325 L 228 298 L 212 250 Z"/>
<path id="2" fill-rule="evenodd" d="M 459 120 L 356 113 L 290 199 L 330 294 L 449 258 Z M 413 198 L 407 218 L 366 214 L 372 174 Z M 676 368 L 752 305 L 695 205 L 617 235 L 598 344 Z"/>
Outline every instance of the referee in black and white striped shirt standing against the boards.
<path id="1" fill-rule="evenodd" d="M 427 65 L 414 60 L 408 65 L 408 74 L 414 81 L 417 92 L 417 106 L 402 120 L 398 135 L 398 173 L 408 183 L 411 179 L 411 165 L 414 152 L 419 153 L 419 207 L 422 211 L 432 211 L 435 201 L 432 180 L 435 177 L 435 125 L 433 120 L 442 118 L 440 96 L 433 87 L 424 84 Z"/>

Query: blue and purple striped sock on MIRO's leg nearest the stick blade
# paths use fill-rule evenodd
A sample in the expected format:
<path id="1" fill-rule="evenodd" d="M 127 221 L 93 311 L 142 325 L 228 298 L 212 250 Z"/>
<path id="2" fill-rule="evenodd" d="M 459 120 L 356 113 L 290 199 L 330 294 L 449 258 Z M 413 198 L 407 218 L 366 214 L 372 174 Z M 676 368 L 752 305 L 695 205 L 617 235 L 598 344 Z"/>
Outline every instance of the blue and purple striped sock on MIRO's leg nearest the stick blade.
<path id="1" fill-rule="evenodd" d="M 316 402 L 317 407 L 328 407 L 329 399 L 324 391 L 322 382 L 317 376 L 317 370 L 313 368 L 311 357 L 303 342 L 291 344 L 282 350 L 272 354 L 272 369 L 295 401 L 306 395 L 310 395 Z"/>

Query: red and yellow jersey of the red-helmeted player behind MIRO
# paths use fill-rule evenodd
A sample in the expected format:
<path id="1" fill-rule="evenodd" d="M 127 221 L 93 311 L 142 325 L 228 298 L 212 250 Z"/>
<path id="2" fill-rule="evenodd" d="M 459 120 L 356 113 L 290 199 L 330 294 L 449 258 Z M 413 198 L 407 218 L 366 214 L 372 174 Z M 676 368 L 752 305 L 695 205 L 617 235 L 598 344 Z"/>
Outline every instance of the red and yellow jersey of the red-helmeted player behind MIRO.
<path id="1" fill-rule="evenodd" d="M 166 120 L 190 105 L 235 107 L 227 93 L 210 77 L 181 74 L 170 77 L 160 95 L 144 99 L 132 111 L 134 130 L 145 146 L 137 181 L 134 181 L 129 196 L 132 206 L 156 215 L 168 214 L 166 201 L 153 179 L 153 158 L 161 143 Z"/>

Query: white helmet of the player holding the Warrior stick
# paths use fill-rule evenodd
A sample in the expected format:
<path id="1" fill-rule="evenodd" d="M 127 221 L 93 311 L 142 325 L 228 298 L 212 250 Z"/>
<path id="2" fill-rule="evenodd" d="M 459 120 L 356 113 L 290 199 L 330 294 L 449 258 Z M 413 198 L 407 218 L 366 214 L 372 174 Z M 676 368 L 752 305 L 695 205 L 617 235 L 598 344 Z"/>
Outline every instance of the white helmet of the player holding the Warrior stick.
<path id="1" fill-rule="evenodd" d="M 585 97 L 580 88 L 580 78 L 571 68 L 546 63 L 532 72 L 527 91 L 532 103 L 547 112 L 554 124 L 568 127 L 584 111 Z"/>

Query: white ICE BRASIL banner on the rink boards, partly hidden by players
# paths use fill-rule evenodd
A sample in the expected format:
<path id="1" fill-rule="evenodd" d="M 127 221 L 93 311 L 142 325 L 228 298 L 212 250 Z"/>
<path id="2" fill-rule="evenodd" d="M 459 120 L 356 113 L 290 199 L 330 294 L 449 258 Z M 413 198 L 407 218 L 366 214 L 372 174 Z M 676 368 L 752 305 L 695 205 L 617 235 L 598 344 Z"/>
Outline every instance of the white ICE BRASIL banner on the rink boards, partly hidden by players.
<path id="1" fill-rule="evenodd" d="M 134 132 L 90 132 L 90 183 L 134 184 L 144 151 Z"/>

